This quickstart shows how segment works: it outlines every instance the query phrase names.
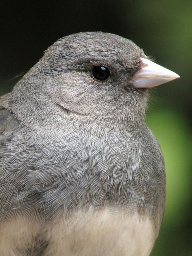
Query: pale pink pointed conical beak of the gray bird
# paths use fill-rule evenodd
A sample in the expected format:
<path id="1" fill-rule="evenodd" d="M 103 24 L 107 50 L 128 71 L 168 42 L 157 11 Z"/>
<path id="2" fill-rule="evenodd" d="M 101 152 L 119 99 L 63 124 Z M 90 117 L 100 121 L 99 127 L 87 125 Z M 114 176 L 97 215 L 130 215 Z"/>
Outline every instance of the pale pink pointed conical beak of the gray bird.
<path id="1" fill-rule="evenodd" d="M 150 88 L 179 78 L 180 76 L 151 60 L 141 58 L 142 68 L 132 78 L 132 85 L 136 88 Z"/>

